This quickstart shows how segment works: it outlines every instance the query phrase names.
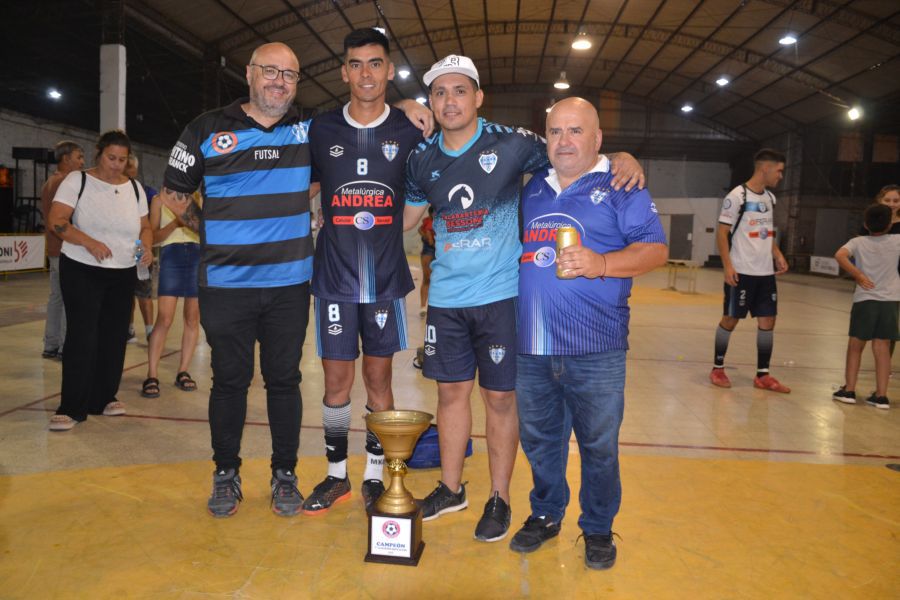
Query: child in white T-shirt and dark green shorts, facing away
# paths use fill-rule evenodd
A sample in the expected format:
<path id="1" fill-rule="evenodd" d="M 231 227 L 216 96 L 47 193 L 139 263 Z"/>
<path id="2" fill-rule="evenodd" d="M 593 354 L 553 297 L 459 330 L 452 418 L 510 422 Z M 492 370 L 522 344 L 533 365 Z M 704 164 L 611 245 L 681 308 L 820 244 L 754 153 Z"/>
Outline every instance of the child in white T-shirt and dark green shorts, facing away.
<path id="1" fill-rule="evenodd" d="M 850 312 L 850 341 L 847 344 L 845 383 L 832 398 L 856 404 L 856 381 L 866 342 L 872 341 L 875 356 L 876 389 L 866 399 L 876 408 L 890 408 L 887 385 L 891 370 L 891 341 L 898 337 L 900 311 L 900 235 L 889 234 L 891 209 L 873 204 L 864 215 L 871 235 L 853 238 L 834 255 L 841 267 L 856 280 Z M 850 262 L 853 257 L 856 264 Z"/>

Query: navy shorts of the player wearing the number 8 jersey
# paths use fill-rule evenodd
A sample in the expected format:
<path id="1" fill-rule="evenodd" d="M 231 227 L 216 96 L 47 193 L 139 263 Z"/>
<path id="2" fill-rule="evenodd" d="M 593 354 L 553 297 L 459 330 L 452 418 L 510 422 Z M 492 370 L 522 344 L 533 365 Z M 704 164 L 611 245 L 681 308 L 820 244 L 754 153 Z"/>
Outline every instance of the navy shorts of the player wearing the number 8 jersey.
<path id="1" fill-rule="evenodd" d="M 367 356 L 406 350 L 406 300 L 358 304 L 316 298 L 316 352 L 320 358 L 356 360 L 359 340 Z"/>

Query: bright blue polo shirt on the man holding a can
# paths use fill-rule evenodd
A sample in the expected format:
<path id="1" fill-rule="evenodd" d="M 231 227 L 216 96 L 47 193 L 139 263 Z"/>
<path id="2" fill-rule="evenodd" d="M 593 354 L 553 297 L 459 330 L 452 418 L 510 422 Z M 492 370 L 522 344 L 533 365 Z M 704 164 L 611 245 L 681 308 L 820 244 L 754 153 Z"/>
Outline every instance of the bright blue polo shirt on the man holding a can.
<path id="1" fill-rule="evenodd" d="M 656 207 L 646 190 L 615 191 L 605 157 L 561 193 L 551 185 L 557 181 L 536 173 L 522 193 L 519 353 L 627 350 L 631 278 L 557 278 L 556 231 L 574 227 L 581 244 L 600 254 L 634 243 L 665 244 Z"/>

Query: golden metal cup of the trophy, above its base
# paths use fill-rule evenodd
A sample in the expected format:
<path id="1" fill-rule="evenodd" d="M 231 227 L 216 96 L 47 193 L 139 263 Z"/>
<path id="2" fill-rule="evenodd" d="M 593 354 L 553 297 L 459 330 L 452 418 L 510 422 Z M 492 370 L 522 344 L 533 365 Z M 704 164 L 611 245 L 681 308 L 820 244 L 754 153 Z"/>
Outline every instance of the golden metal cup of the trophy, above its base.
<path id="1" fill-rule="evenodd" d="M 390 486 L 375 504 L 377 511 L 398 515 L 417 510 L 412 494 L 403 485 L 404 461 L 412 455 L 416 441 L 428 429 L 432 418 L 433 415 L 419 410 L 385 410 L 366 415 L 366 425 L 378 436 L 391 474 Z"/>

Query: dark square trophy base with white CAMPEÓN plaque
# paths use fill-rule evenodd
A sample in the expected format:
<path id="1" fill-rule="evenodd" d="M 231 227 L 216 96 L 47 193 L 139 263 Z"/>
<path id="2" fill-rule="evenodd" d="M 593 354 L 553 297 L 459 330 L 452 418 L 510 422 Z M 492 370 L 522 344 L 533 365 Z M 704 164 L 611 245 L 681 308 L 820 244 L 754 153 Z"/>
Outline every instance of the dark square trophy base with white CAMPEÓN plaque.
<path id="1" fill-rule="evenodd" d="M 415 567 L 425 542 L 422 541 L 422 509 L 391 515 L 369 513 L 369 551 L 366 562 Z"/>

